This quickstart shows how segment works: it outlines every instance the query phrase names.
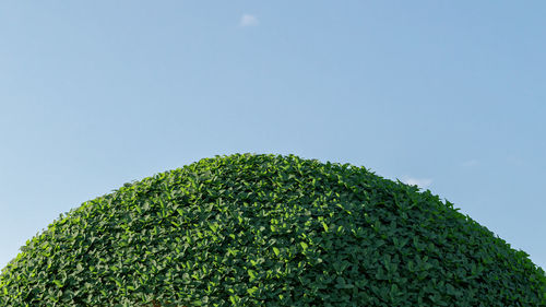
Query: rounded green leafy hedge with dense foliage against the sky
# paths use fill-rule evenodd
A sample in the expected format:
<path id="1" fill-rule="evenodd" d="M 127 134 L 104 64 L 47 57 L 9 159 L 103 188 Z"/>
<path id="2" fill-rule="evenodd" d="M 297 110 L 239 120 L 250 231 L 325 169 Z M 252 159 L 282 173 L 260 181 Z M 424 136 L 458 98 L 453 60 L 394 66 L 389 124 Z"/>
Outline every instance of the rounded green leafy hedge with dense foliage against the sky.
<path id="1" fill-rule="evenodd" d="M 0 306 L 546 306 L 546 275 L 430 191 L 235 154 L 87 201 L 28 240 Z"/>

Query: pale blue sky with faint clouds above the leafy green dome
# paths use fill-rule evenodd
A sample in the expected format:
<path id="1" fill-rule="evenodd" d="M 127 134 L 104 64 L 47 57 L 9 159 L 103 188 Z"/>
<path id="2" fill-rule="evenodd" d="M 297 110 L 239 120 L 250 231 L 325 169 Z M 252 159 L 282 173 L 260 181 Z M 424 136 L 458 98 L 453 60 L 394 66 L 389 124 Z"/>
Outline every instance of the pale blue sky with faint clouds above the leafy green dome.
<path id="1" fill-rule="evenodd" d="M 205 157 L 418 185 L 546 270 L 544 1 L 4 1 L 0 268 Z"/>

